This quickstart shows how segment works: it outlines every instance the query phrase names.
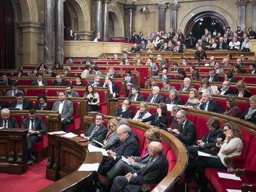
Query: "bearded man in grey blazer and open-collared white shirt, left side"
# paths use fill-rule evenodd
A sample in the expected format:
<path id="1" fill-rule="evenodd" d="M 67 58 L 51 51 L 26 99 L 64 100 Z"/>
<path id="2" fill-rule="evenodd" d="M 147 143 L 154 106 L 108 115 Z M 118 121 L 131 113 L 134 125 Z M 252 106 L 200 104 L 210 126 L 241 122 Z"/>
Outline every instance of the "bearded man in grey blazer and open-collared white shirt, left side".
<path id="1" fill-rule="evenodd" d="M 61 114 L 61 130 L 66 131 L 66 126 L 73 122 L 73 103 L 66 99 L 63 91 L 59 92 L 59 101 L 54 102 L 52 111 L 59 111 Z"/>

